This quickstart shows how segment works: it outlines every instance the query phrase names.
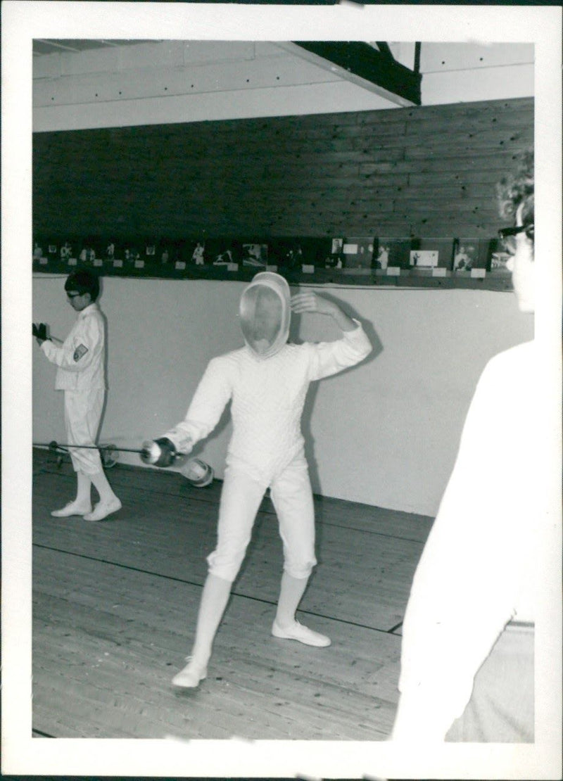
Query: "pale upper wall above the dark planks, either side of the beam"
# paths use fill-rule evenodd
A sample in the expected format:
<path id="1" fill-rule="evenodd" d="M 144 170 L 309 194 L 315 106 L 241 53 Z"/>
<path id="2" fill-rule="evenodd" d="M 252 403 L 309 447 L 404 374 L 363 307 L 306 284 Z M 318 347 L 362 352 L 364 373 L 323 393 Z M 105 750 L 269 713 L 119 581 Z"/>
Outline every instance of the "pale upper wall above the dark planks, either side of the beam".
<path id="1" fill-rule="evenodd" d="M 391 46 L 412 68 L 414 45 Z M 422 43 L 422 105 L 533 95 L 533 45 Z M 268 41 L 162 41 L 34 59 L 34 131 L 394 109 Z"/>

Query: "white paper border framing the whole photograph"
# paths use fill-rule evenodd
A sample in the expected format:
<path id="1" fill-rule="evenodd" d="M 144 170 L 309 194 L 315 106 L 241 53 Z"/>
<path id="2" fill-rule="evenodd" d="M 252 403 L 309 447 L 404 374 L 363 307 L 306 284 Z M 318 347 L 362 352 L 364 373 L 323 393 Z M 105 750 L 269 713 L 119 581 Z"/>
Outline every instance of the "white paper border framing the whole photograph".
<path id="1" fill-rule="evenodd" d="M 2 773 L 27 776 L 551 779 L 561 769 L 561 497 L 553 577 L 538 623 L 536 743 L 80 740 L 31 737 L 31 138 L 34 38 L 533 42 L 536 52 L 536 339 L 560 353 L 561 9 L 518 5 L 331 6 L 2 3 Z M 27 237 L 29 251 L 26 248 Z M 554 324 L 557 324 L 554 328 Z M 560 394 L 558 359 L 546 376 Z M 559 473 L 561 440 L 546 448 Z M 553 460 L 554 458 L 554 460 Z M 555 485 L 558 485 L 558 478 Z M 551 574 L 551 573 L 550 573 Z M 557 579 L 557 580 L 554 580 Z M 218 745 L 220 744 L 220 745 Z"/>

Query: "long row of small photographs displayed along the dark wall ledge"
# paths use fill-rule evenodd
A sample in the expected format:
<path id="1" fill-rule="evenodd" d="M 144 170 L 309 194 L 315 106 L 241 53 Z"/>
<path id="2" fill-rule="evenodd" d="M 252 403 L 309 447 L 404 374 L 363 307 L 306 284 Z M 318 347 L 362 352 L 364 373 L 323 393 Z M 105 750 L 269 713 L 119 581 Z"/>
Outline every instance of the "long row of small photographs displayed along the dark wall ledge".
<path id="1" fill-rule="evenodd" d="M 496 239 L 418 237 L 290 237 L 264 241 L 235 238 L 185 240 L 103 237 L 37 237 L 34 270 L 98 267 L 122 276 L 232 278 L 239 271 L 331 276 L 470 276 L 507 274 L 508 255 Z M 221 272 L 225 272 L 224 274 Z M 199 273 L 198 273 L 199 272 Z M 245 274 L 245 276 L 248 276 Z"/>

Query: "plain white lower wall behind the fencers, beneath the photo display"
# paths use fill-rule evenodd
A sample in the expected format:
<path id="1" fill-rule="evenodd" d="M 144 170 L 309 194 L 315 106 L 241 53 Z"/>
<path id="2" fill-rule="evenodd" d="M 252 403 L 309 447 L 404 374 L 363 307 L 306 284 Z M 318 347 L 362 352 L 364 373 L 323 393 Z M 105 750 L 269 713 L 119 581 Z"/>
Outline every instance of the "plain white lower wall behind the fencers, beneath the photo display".
<path id="1" fill-rule="evenodd" d="M 34 321 L 64 337 L 74 313 L 64 277 L 34 278 Z M 109 394 L 101 441 L 137 448 L 184 417 L 210 358 L 242 344 L 241 283 L 104 280 L 109 321 Z M 362 366 L 315 383 L 304 432 L 314 490 L 331 497 L 433 515 L 453 465 L 476 380 L 497 352 L 532 337 L 509 293 L 320 291 L 358 316 L 376 344 Z M 499 324 L 502 323 L 500 326 Z M 297 330 L 296 330 L 296 326 Z M 303 316 L 293 337 L 338 337 L 331 321 Z M 55 368 L 33 358 L 34 441 L 64 440 Z M 223 475 L 228 418 L 201 456 Z M 141 465 L 136 455 L 125 463 Z M 110 475 L 111 476 L 111 475 Z"/>

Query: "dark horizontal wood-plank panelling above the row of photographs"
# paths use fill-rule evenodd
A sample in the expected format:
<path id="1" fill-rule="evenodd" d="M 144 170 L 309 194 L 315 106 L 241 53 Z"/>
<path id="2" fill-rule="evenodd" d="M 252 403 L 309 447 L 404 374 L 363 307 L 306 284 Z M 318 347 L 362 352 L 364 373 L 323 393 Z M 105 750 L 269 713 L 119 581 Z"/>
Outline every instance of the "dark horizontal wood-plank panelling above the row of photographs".
<path id="1" fill-rule="evenodd" d="M 34 232 L 494 237 L 533 98 L 34 134 Z"/>

